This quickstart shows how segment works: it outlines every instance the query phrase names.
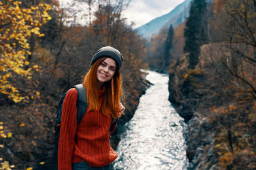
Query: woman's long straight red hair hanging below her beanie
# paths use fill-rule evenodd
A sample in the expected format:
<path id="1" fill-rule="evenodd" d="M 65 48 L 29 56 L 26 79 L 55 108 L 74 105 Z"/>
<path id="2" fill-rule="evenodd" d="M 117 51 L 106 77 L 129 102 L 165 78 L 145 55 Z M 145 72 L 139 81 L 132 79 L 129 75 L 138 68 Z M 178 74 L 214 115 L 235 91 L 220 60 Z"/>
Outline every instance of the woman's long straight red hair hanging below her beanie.
<path id="1" fill-rule="evenodd" d="M 107 57 L 98 59 L 90 68 L 86 76 L 84 76 L 84 86 L 86 87 L 88 110 L 97 110 L 99 108 L 99 94 L 97 87 L 97 68 L 100 63 Z M 116 67 L 113 78 L 104 83 L 104 94 L 100 110 L 103 115 L 118 118 L 124 113 L 120 109 L 120 103 L 124 103 L 124 94 L 122 91 L 122 76 Z"/>

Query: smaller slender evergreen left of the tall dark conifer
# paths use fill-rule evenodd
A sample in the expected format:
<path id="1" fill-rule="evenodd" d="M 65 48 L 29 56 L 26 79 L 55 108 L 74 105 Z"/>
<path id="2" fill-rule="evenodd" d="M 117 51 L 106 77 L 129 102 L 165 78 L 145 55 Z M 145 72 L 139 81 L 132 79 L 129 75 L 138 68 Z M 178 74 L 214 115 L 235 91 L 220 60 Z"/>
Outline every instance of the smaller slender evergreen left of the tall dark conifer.
<path id="1" fill-rule="evenodd" d="M 172 39 L 173 39 L 173 26 L 169 27 L 168 36 L 164 42 L 164 64 L 166 69 L 170 66 L 171 53 L 170 50 L 172 48 Z"/>

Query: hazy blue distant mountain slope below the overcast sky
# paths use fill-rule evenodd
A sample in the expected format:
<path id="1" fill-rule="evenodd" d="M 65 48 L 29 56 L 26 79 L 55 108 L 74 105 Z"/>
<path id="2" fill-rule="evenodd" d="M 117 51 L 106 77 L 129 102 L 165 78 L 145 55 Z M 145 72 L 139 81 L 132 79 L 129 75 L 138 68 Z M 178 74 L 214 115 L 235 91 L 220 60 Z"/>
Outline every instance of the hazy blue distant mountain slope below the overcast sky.
<path id="1" fill-rule="evenodd" d="M 175 25 L 184 22 L 186 17 L 188 17 L 190 2 L 191 0 L 184 1 L 183 3 L 176 6 L 174 10 L 161 17 L 157 17 L 154 20 L 151 20 L 147 24 L 135 29 L 135 31 L 143 38 L 149 39 L 157 34 L 164 26 L 169 27 L 172 24 L 173 27 L 175 27 Z"/>

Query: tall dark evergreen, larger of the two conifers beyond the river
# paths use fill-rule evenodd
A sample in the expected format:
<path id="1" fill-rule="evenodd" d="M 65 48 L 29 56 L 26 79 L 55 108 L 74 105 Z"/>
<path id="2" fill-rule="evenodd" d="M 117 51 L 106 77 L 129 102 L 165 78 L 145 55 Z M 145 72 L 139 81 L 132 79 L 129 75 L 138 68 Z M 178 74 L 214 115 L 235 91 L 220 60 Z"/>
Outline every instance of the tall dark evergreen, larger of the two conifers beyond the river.
<path id="1" fill-rule="evenodd" d="M 200 45 L 206 43 L 205 23 L 203 18 L 206 12 L 205 0 L 193 0 L 189 10 L 189 17 L 186 20 L 184 29 L 185 46 L 184 52 L 189 55 L 189 67 L 194 69 L 198 64 Z"/>

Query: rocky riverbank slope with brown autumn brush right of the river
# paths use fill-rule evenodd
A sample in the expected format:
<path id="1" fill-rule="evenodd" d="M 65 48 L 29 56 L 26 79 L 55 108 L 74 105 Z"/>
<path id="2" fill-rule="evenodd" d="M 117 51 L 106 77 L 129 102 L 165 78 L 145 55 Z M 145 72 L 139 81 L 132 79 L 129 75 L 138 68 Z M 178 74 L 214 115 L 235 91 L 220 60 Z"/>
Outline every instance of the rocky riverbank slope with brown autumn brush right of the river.
<path id="1" fill-rule="evenodd" d="M 184 56 L 169 70 L 169 101 L 188 124 L 188 169 L 255 169 L 256 102 L 220 59 L 205 55 L 215 46 L 202 46 L 195 69 Z"/>

